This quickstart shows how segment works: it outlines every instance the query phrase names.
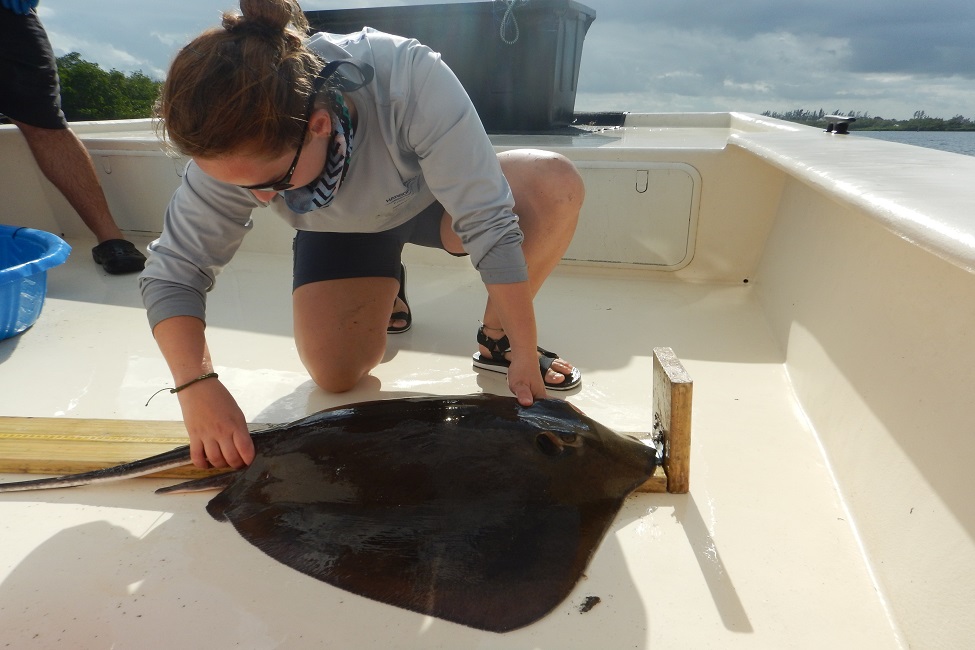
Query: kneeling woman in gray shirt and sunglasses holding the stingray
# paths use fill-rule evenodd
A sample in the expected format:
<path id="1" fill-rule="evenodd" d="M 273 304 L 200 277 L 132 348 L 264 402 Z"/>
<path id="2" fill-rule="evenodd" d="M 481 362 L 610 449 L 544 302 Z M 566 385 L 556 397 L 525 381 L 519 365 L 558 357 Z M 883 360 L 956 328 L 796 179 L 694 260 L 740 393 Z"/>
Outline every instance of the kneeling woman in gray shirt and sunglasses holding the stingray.
<path id="1" fill-rule="evenodd" d="M 170 67 L 158 115 L 192 160 L 140 279 L 194 463 L 253 458 L 243 413 L 212 373 L 204 319 L 205 294 L 260 206 L 298 231 L 295 342 L 323 389 L 351 389 L 381 361 L 387 333 L 409 327 L 406 242 L 469 254 L 479 270 L 476 367 L 507 373 L 526 406 L 577 386 L 577 369 L 537 348 L 532 307 L 578 219 L 572 164 L 495 155 L 456 77 L 414 40 L 368 28 L 306 38 L 293 0 L 241 10 Z"/>

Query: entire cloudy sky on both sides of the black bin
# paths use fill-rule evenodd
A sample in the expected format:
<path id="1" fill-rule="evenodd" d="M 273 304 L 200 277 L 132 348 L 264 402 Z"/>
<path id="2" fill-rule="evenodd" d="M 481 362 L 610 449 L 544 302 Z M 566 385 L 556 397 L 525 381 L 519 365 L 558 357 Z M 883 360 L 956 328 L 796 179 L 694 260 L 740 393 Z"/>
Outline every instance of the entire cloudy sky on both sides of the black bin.
<path id="1" fill-rule="evenodd" d="M 311 10 L 426 2 L 301 4 Z M 896 119 L 923 110 L 975 118 L 972 0 L 583 4 L 597 17 L 583 50 L 577 110 L 822 108 Z M 181 45 L 235 7 L 234 0 L 41 0 L 39 12 L 58 55 L 76 51 L 106 69 L 162 78 Z"/>

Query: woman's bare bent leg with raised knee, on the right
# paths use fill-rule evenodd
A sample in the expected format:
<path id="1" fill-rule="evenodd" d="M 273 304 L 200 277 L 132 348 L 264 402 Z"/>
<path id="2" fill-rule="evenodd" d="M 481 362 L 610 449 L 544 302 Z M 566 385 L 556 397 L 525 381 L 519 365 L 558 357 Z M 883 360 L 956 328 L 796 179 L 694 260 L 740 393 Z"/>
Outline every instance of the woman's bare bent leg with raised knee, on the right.
<path id="1" fill-rule="evenodd" d="M 535 295 L 572 241 L 585 198 L 585 186 L 572 162 L 559 154 L 519 149 L 503 152 L 498 158 L 511 186 L 515 214 L 525 235 L 522 248 L 528 262 L 528 282 L 532 295 Z M 441 224 L 441 237 L 448 252 L 463 250 L 446 215 Z M 483 323 L 485 334 L 490 338 L 504 336 L 501 319 L 490 299 L 484 309 Z M 481 354 L 489 354 L 483 345 L 479 349 Z M 570 363 L 557 359 L 546 380 L 558 384 L 572 370 Z"/>

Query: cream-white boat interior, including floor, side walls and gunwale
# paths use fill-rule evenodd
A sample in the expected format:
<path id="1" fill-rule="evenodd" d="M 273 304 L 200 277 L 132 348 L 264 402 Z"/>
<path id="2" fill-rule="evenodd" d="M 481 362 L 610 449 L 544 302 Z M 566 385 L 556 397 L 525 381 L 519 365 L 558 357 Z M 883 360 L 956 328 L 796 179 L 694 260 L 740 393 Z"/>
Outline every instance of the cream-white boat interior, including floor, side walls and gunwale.
<path id="1" fill-rule="evenodd" d="M 144 123 L 76 130 L 145 245 L 180 165 Z M 75 252 L 38 323 L 0 342 L 0 416 L 180 419 L 169 393 L 145 405 L 171 378 L 134 278 L 92 263 L 15 136 L 0 127 L 0 178 L 21 189 L 0 221 Z M 301 575 L 212 520 L 208 495 L 153 494 L 164 481 L 3 494 L 0 647 L 968 647 L 975 158 L 743 114 L 493 140 L 566 153 L 587 182 L 570 257 L 599 263 L 560 266 L 536 300 L 540 344 L 583 371 L 561 397 L 649 431 L 652 348 L 673 348 L 694 380 L 690 493 L 631 497 L 572 595 L 504 635 Z M 477 274 L 409 248 L 413 330 L 354 391 L 317 389 L 291 336 L 290 232 L 266 211 L 255 223 L 208 314 L 249 421 L 507 392 L 471 368 Z"/>

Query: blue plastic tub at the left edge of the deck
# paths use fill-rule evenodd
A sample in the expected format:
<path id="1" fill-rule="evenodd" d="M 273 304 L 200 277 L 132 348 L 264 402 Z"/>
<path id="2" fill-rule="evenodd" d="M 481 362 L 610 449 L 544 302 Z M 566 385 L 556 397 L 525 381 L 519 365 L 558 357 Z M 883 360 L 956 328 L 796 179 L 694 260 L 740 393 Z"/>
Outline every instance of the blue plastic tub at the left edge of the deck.
<path id="1" fill-rule="evenodd" d="M 70 252 L 57 235 L 0 225 L 0 340 L 37 321 L 47 294 L 47 270 L 63 264 Z"/>

